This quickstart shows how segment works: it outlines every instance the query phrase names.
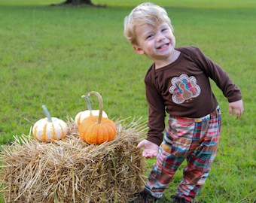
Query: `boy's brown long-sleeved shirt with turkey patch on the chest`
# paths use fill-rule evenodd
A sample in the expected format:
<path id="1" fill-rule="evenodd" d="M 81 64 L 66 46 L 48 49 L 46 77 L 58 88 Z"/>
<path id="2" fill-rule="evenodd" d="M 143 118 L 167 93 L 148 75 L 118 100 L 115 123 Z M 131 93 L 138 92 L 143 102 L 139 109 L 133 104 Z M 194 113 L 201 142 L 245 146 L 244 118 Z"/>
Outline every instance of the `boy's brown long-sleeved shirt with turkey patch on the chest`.
<path id="1" fill-rule="evenodd" d="M 163 141 L 166 113 L 174 117 L 200 118 L 218 106 L 209 78 L 215 81 L 228 102 L 242 98 L 242 93 L 218 64 L 197 47 L 178 47 L 181 54 L 175 62 L 155 69 L 145 76 L 149 105 L 148 141 Z"/>

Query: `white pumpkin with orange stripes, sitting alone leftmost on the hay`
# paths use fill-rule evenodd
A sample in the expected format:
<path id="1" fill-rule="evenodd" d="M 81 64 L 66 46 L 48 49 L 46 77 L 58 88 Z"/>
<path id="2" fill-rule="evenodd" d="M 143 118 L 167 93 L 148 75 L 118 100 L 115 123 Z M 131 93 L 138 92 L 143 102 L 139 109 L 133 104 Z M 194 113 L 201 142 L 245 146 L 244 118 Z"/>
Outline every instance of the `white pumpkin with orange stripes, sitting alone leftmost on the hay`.
<path id="1" fill-rule="evenodd" d="M 43 105 L 44 113 L 47 115 L 46 118 L 38 120 L 33 128 L 32 133 L 38 141 L 50 142 L 53 140 L 60 140 L 65 138 L 68 133 L 68 126 L 63 121 L 56 117 L 50 117 L 49 111 L 45 105 Z"/>

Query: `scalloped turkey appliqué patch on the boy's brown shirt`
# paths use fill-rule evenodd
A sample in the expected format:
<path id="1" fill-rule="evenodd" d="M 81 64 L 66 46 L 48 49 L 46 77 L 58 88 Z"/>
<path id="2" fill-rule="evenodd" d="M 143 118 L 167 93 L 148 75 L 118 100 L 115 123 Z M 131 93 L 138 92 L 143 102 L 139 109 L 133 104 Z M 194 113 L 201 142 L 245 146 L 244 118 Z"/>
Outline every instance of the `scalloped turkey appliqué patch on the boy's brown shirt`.
<path id="1" fill-rule="evenodd" d="M 196 77 L 181 74 L 179 77 L 172 78 L 172 86 L 169 88 L 169 92 L 172 94 L 172 101 L 175 104 L 181 104 L 196 98 L 200 95 L 201 89 L 197 85 Z"/>

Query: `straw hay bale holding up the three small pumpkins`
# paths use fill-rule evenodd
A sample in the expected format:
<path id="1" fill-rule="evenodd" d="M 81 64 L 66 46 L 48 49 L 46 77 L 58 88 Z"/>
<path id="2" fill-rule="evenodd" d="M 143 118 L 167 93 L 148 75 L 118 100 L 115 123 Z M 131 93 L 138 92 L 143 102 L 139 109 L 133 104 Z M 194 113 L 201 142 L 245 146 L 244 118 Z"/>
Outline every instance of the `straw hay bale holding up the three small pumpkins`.
<path id="1" fill-rule="evenodd" d="M 127 121 L 126 121 L 127 122 Z M 117 122 L 114 141 L 85 143 L 72 119 L 61 141 L 15 136 L 2 146 L 0 192 L 6 202 L 127 202 L 144 186 L 144 159 L 136 145 L 145 133 L 141 119 Z"/>

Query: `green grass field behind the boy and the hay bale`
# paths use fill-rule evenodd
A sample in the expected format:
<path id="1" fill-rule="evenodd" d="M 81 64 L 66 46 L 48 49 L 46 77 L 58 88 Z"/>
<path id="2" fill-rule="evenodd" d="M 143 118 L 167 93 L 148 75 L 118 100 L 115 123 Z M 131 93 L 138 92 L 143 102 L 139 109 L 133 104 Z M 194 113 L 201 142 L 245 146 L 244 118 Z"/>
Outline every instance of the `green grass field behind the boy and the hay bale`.
<path id="1" fill-rule="evenodd" d="M 33 123 L 45 117 L 41 105 L 53 117 L 75 118 L 86 109 L 81 95 L 91 90 L 102 94 L 108 117 L 147 119 L 143 79 L 151 60 L 134 53 L 123 37 L 123 18 L 144 1 L 93 1 L 106 8 L 49 6 L 59 2 L 0 2 L 0 144 L 11 143 L 13 135 L 28 135 Z M 197 202 L 256 202 L 256 2 L 151 2 L 169 13 L 177 47 L 200 47 L 243 93 L 245 112 L 235 120 L 213 84 L 223 113 L 221 144 Z M 148 160 L 149 168 L 153 162 Z M 181 169 L 166 198 L 180 179 Z"/>

